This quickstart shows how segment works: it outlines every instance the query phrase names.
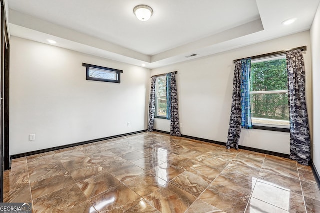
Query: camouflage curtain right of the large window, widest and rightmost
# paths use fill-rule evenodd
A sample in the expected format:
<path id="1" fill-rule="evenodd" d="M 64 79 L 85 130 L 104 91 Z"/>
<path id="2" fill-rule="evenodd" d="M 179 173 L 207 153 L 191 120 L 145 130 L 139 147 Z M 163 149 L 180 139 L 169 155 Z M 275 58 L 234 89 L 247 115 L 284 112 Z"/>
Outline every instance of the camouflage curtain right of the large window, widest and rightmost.
<path id="1" fill-rule="evenodd" d="M 290 108 L 290 158 L 309 165 L 310 132 L 305 101 L 305 69 L 301 50 L 286 53 Z"/>

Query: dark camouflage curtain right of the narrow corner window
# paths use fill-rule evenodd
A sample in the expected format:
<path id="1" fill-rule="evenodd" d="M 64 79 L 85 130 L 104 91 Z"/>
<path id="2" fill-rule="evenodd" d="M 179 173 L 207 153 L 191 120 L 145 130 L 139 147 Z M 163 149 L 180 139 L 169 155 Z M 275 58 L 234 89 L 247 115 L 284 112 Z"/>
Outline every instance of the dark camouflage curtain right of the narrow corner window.
<path id="1" fill-rule="evenodd" d="M 170 74 L 170 90 L 171 90 L 171 131 L 170 135 L 181 136 L 180 126 L 179 126 L 179 110 L 178 110 L 178 94 L 176 89 L 175 72 Z"/>

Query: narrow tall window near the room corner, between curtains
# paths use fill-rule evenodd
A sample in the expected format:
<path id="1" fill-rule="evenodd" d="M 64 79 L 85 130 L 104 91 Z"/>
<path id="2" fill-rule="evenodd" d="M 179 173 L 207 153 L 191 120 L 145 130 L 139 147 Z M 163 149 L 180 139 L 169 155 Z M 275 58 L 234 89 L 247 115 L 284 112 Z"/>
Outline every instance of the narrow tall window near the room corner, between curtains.
<path id="1" fill-rule="evenodd" d="M 166 118 L 166 75 L 156 77 L 156 118 Z"/>

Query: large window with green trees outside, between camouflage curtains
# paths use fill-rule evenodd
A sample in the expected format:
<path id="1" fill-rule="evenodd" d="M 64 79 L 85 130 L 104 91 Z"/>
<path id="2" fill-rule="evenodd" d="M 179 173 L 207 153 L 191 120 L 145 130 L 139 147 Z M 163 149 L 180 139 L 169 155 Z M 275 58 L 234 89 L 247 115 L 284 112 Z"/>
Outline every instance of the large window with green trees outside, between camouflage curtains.
<path id="1" fill-rule="evenodd" d="M 251 61 L 250 99 L 253 126 L 289 128 L 285 55 Z"/>

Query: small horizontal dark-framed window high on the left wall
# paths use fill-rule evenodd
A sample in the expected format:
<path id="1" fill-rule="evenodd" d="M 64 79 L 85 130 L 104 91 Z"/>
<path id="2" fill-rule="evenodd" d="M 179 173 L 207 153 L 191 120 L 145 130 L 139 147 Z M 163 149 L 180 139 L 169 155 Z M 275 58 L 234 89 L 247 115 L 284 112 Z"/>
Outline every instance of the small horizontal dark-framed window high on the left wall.
<path id="1" fill-rule="evenodd" d="M 122 70 L 82 63 L 86 67 L 86 80 L 120 83 Z"/>

